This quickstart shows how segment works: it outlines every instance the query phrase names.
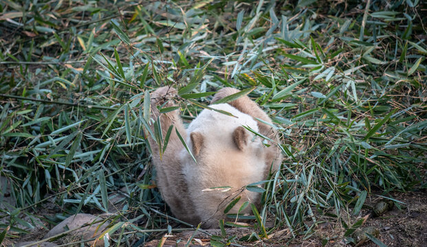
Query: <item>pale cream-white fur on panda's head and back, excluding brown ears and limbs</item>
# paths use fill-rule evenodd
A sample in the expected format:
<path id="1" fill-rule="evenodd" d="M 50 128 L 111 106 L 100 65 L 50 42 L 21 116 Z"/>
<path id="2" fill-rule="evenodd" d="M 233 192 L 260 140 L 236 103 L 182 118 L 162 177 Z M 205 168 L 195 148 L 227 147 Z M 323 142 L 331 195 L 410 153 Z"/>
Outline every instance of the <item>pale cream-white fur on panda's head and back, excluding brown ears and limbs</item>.
<path id="1" fill-rule="evenodd" d="M 259 137 L 245 130 L 249 138 L 248 146 L 243 151 L 237 148 L 232 137 L 234 130 L 239 126 L 248 126 L 258 132 L 256 121 L 229 104 L 215 104 L 209 107 L 224 110 L 234 117 L 214 110 L 203 110 L 187 130 L 186 143 L 190 146 L 190 150 L 193 150 L 190 133 L 199 132 L 204 137 L 201 151 L 196 156 L 197 163 L 186 150 L 182 150 L 179 154 L 190 198 L 196 205 L 197 214 L 202 221 L 208 222 L 207 225 L 215 224 L 215 221 L 223 216 L 223 209 L 234 197 L 242 198 L 230 213 L 237 213 L 245 201 L 257 202 L 259 193 L 246 190 L 241 192 L 241 188 L 263 180 L 265 169 L 264 147 Z M 231 188 L 226 192 L 218 189 L 205 190 L 224 186 Z M 221 204 L 218 205 L 219 203 Z M 250 207 L 243 212 L 249 211 Z"/>

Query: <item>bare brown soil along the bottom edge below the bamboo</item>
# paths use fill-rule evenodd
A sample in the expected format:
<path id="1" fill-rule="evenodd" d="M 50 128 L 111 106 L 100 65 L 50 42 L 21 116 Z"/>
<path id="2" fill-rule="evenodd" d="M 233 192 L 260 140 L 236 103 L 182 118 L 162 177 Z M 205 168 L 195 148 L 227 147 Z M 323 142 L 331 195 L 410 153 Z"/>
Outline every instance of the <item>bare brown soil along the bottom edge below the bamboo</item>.
<path id="1" fill-rule="evenodd" d="M 426 246 L 427 243 L 427 193 L 426 191 L 418 192 L 406 192 L 406 193 L 392 193 L 391 196 L 402 204 L 402 209 L 393 207 L 391 211 L 384 213 L 380 217 L 373 217 L 372 212 L 369 209 L 362 209 L 358 217 L 354 217 L 352 220 L 355 222 L 360 217 L 364 217 L 368 214 L 368 220 L 361 226 L 361 228 L 367 226 L 373 226 L 380 235 L 377 239 L 386 244 L 386 246 Z M 367 204 L 373 205 L 379 199 L 367 201 Z M 52 209 L 42 210 L 36 214 L 43 217 L 43 215 L 54 215 Z M 45 225 L 47 228 L 52 227 Z M 165 226 L 166 227 L 166 226 Z M 173 228 L 179 227 L 179 224 L 173 225 Z M 185 227 L 185 226 L 184 226 Z M 226 228 L 227 236 L 237 235 L 236 239 L 248 235 L 252 232 L 252 229 L 248 228 Z M 212 235 L 221 235 L 219 229 L 207 230 Z M 20 239 L 14 239 L 13 242 L 25 242 L 34 241 L 34 239 L 41 239 L 41 236 L 45 235 L 47 230 L 45 228 L 37 228 L 32 231 L 31 234 L 21 237 Z M 145 246 L 159 246 L 159 242 L 163 242 L 160 246 L 185 246 L 188 240 L 193 236 L 194 231 L 182 231 L 173 232 L 171 234 L 164 233 L 152 233 L 147 239 Z M 313 235 L 310 237 L 299 236 L 297 239 L 291 241 L 289 231 L 284 228 L 278 231 L 274 231 L 268 239 L 262 241 L 252 242 L 252 246 L 283 246 L 290 241 L 290 246 L 322 246 L 322 240 L 329 237 L 329 242 L 325 246 L 350 246 L 344 244 L 342 241 L 344 235 L 344 228 L 339 222 L 333 222 L 331 220 L 320 223 L 318 228 Z M 137 242 L 139 239 L 133 239 Z M 11 244 L 12 242 L 8 242 Z M 61 240 L 58 242 L 61 243 Z M 62 242 L 63 243 L 63 242 Z M 204 233 L 196 233 L 193 236 L 192 245 L 190 246 L 209 246 L 210 237 Z M 246 246 L 248 243 L 243 244 Z M 324 243 L 325 244 L 325 243 Z M 359 246 L 376 246 L 373 242 L 364 242 Z"/>

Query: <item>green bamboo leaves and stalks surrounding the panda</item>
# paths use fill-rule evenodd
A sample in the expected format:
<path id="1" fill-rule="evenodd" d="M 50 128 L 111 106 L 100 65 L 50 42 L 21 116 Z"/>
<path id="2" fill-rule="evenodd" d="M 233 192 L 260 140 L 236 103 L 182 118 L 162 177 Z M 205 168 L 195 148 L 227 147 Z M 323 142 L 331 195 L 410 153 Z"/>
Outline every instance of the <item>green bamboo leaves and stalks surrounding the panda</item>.
<path id="1" fill-rule="evenodd" d="M 325 218 L 342 222 L 338 237 L 352 242 L 366 198 L 426 189 L 426 5 L 326 4 L 2 1 L 6 238 L 111 211 L 121 188 L 124 204 L 109 216 L 114 244 L 179 228 L 155 189 L 144 137 L 149 92 L 163 85 L 179 89 L 187 121 L 211 92 L 248 90 L 281 133 L 283 169 L 265 183 L 252 233 L 223 231 L 212 245 L 248 245 L 284 228 L 292 243 L 316 236 Z M 40 214 L 47 202 L 56 215 Z"/>

